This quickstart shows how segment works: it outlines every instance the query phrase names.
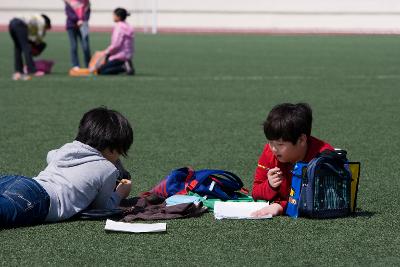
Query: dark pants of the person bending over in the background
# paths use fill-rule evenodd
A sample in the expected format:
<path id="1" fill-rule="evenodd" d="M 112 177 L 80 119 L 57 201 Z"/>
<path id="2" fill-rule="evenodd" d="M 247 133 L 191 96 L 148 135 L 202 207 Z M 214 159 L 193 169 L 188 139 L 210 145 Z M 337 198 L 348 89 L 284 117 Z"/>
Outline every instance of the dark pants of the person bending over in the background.
<path id="1" fill-rule="evenodd" d="M 28 26 L 22 20 L 14 18 L 10 21 L 8 30 L 14 42 L 14 70 L 23 72 L 22 55 L 24 55 L 28 72 L 36 72 L 31 46 L 28 41 Z"/>

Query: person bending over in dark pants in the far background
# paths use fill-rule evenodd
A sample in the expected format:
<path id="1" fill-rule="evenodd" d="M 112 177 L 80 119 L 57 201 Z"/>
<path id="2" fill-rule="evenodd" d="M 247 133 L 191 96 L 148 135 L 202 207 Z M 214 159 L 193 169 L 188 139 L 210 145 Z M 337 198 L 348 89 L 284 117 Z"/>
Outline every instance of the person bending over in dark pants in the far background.
<path id="1" fill-rule="evenodd" d="M 8 29 L 14 42 L 13 80 L 29 80 L 31 78 L 30 74 L 43 76 L 44 72 L 36 70 L 32 56 L 32 46 L 39 46 L 44 49 L 43 38 L 46 31 L 51 29 L 49 17 L 44 14 L 15 17 L 10 21 Z M 23 74 L 22 55 L 25 58 L 28 75 Z"/>

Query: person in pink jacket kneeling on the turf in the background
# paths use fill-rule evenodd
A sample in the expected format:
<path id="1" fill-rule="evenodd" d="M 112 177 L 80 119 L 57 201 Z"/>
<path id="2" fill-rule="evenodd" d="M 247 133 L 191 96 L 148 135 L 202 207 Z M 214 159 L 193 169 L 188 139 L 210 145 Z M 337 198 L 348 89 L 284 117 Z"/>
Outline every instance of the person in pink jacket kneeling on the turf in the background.
<path id="1" fill-rule="evenodd" d="M 97 73 L 135 74 L 132 58 L 134 53 L 134 31 L 125 20 L 130 14 L 124 8 L 114 10 L 114 22 L 116 23 L 111 36 L 111 44 L 102 51 L 106 56 L 106 63 L 102 65 Z"/>

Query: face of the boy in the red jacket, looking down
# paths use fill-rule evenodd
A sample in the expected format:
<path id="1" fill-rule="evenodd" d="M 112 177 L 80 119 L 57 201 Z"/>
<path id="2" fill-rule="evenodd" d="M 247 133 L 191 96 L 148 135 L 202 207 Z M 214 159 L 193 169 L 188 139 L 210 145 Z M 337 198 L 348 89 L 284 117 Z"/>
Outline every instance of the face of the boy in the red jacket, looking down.
<path id="1" fill-rule="evenodd" d="M 269 147 L 282 163 L 295 163 L 304 159 L 307 153 L 307 136 L 302 135 L 293 145 L 292 142 L 283 141 L 282 138 L 278 140 L 270 140 Z"/>

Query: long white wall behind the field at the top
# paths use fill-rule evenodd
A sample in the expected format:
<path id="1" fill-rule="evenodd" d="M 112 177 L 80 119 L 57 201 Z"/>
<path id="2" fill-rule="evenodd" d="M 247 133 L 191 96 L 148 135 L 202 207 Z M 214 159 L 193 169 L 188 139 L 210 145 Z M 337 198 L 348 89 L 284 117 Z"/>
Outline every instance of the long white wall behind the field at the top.
<path id="1" fill-rule="evenodd" d="M 300 32 L 400 32 L 400 0 L 92 0 L 91 26 L 112 26 L 111 12 L 159 29 Z M 0 24 L 18 13 L 44 12 L 64 25 L 62 0 L 1 0 Z"/>

